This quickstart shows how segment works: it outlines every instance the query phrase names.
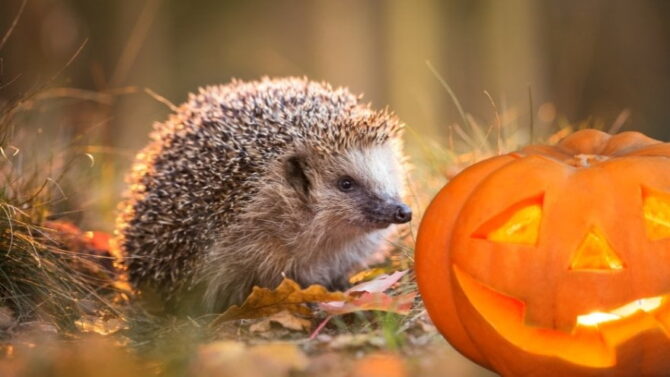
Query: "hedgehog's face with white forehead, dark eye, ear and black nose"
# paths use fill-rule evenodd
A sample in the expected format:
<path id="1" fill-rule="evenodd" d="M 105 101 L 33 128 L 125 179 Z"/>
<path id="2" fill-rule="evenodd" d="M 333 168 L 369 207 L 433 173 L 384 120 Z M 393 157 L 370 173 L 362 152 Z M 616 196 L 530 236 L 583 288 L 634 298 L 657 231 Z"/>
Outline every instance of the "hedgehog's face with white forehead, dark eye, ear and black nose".
<path id="1" fill-rule="evenodd" d="M 370 232 L 412 217 L 401 200 L 402 169 L 395 156 L 383 144 L 313 160 L 293 157 L 287 172 L 320 222 Z"/>

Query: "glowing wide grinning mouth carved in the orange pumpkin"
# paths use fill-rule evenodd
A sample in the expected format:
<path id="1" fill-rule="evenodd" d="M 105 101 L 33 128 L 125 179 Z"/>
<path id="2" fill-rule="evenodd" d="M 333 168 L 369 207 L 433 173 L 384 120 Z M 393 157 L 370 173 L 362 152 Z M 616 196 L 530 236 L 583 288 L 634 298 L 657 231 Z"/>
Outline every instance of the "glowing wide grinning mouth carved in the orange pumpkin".
<path id="1" fill-rule="evenodd" d="M 616 365 L 616 348 L 636 335 L 660 330 L 670 337 L 670 294 L 634 300 L 607 312 L 577 317 L 571 333 L 525 324 L 523 301 L 496 292 L 458 266 L 456 280 L 474 309 L 506 341 L 525 352 L 592 368 Z"/>

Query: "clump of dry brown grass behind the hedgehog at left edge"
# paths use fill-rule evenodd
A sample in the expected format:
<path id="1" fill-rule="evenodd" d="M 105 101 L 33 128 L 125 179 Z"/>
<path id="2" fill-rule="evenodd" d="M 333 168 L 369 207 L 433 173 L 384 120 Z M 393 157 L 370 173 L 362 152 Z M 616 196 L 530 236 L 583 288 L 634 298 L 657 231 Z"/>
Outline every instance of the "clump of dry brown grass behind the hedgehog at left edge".
<path id="1" fill-rule="evenodd" d="M 0 308 L 11 309 L 19 322 L 40 320 L 74 331 L 82 303 L 115 312 L 111 295 L 105 296 L 115 291 L 114 273 L 105 267 L 111 261 L 82 241 L 77 228 L 47 221 L 53 206 L 65 199 L 59 182 L 69 168 L 71 151 L 59 156 L 65 161 L 61 164 L 31 161 L 27 152 L 38 146 L 17 140 L 14 129 L 21 134 L 25 128 L 12 115 L 1 119 Z"/>

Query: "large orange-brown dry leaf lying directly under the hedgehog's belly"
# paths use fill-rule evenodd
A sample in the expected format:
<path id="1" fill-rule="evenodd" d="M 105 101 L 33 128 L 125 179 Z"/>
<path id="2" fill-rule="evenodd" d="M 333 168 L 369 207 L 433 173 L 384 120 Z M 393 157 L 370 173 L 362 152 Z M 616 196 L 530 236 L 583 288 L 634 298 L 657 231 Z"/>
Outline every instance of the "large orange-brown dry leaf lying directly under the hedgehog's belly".
<path id="1" fill-rule="evenodd" d="M 295 281 L 285 278 L 274 290 L 254 287 L 242 305 L 231 306 L 213 324 L 235 319 L 263 318 L 284 310 L 308 316 L 312 311 L 305 306 L 307 303 L 346 300 L 347 296 L 342 292 L 329 292 L 320 285 L 302 289 Z"/>

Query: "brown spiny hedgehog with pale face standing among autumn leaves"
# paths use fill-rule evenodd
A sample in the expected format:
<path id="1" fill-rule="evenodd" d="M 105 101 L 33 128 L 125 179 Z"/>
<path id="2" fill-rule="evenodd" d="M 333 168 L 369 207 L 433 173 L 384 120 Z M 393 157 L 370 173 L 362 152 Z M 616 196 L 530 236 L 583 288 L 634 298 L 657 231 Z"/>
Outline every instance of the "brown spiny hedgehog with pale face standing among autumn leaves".
<path id="1" fill-rule="evenodd" d="M 219 312 L 285 277 L 345 288 L 412 217 L 403 125 L 361 98 L 306 78 L 234 80 L 156 123 L 116 227 L 140 296 Z"/>

